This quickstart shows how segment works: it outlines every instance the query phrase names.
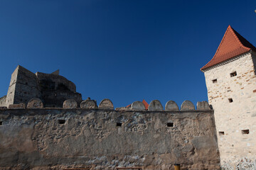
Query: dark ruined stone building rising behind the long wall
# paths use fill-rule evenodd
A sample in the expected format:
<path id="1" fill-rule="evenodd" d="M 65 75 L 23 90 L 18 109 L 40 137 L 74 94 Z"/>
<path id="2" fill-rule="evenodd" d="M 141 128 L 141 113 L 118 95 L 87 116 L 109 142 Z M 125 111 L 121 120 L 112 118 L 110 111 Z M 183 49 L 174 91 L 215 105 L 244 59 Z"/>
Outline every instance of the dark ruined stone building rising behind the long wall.
<path id="1" fill-rule="evenodd" d="M 81 94 L 75 92 L 75 84 L 56 74 L 33 74 L 18 66 L 11 74 L 11 82 L 6 97 L 6 106 L 28 103 L 31 98 L 41 98 L 44 106 L 61 108 L 67 99 L 82 101 Z"/>

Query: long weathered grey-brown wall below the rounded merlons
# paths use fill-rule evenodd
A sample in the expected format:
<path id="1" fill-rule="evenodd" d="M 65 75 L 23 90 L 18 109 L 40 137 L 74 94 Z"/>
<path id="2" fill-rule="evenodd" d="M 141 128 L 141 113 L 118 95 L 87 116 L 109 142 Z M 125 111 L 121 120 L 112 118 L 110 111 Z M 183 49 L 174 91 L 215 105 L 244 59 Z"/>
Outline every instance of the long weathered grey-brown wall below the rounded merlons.
<path id="1" fill-rule="evenodd" d="M 220 169 L 211 110 L 1 109 L 0 122 L 0 169 Z"/>

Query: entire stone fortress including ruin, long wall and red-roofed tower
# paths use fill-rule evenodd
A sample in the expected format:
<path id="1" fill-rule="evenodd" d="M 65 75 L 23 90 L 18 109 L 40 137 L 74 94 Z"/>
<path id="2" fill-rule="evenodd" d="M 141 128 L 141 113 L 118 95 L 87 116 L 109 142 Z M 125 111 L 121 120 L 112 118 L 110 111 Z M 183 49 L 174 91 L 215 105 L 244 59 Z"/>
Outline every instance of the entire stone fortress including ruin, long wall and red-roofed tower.
<path id="1" fill-rule="evenodd" d="M 59 75 L 18 66 L 0 98 L 0 169 L 255 169 L 256 48 L 230 26 L 201 70 L 208 102 L 82 101 Z"/>

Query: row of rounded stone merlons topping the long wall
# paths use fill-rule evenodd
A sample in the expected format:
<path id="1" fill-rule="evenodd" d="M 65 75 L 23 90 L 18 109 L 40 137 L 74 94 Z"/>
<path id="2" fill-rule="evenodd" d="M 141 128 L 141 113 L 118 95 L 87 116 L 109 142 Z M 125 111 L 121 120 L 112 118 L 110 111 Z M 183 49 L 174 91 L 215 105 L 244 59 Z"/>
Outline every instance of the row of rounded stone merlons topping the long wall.
<path id="1" fill-rule="evenodd" d="M 31 98 L 30 101 L 28 101 L 27 106 L 25 103 L 19 103 L 19 104 L 11 104 L 9 107 L 1 107 L 0 109 L 25 109 L 25 108 L 50 108 L 50 107 L 44 107 L 43 102 L 39 98 Z M 74 99 L 68 99 L 63 102 L 63 108 L 73 108 L 73 109 L 100 109 L 100 110 L 114 110 L 114 105 L 110 99 L 103 99 L 99 106 L 97 106 L 97 102 L 95 100 L 90 100 L 90 98 L 87 98 L 87 100 L 82 101 L 80 103 L 80 106 Z M 59 108 L 60 109 L 60 108 Z M 115 108 L 116 111 L 209 111 L 211 108 L 207 101 L 201 101 L 198 102 L 195 106 L 191 101 L 183 101 L 181 104 L 181 109 L 178 108 L 178 105 L 175 101 L 168 101 L 164 107 L 161 105 L 161 102 L 158 100 L 151 101 L 149 103 L 149 108 L 146 110 L 146 107 L 144 106 L 144 103 L 142 101 L 134 101 L 131 106 L 129 107 L 122 107 L 122 108 Z"/>

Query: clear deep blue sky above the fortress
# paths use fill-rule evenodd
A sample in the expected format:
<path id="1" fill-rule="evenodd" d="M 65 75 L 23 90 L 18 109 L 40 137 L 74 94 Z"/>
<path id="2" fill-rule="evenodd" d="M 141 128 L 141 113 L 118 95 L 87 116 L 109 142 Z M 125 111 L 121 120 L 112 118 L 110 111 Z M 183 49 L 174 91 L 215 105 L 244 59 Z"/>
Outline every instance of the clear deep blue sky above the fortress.
<path id="1" fill-rule="evenodd" d="M 0 1 L 0 96 L 18 64 L 114 108 L 207 101 L 203 67 L 232 26 L 256 45 L 256 1 Z"/>

